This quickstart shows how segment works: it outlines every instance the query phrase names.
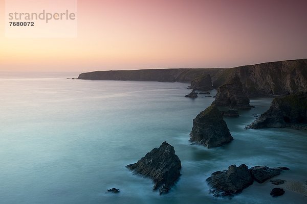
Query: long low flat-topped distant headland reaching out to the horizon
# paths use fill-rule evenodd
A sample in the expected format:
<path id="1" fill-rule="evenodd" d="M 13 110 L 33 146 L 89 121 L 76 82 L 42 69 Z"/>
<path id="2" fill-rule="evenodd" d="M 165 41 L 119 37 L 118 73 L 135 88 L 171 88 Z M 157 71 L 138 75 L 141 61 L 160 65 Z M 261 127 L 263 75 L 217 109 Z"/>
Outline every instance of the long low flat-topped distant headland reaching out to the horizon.
<path id="1" fill-rule="evenodd" d="M 121 81 L 157 81 L 190 83 L 202 75 L 215 75 L 222 69 L 140 69 L 93 71 L 81 73 L 81 80 L 121 80 Z"/>

